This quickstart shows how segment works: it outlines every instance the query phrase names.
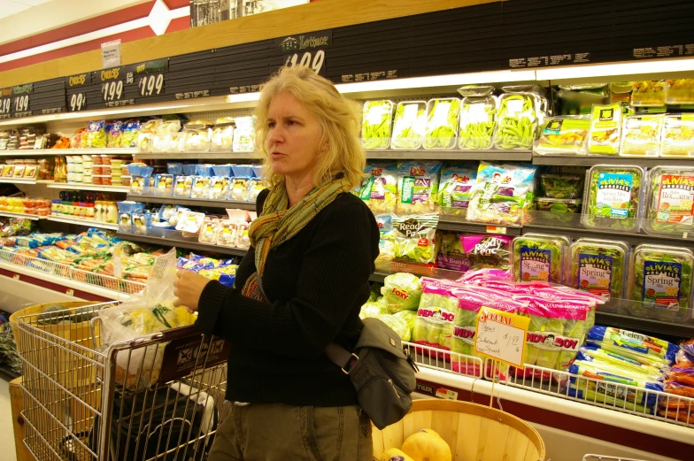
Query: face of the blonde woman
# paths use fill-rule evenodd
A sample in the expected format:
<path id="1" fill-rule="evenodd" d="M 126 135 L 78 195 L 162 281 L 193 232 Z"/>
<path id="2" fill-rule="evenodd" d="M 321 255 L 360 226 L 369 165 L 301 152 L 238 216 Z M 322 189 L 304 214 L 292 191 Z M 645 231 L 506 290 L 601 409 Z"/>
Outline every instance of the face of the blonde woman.
<path id="1" fill-rule="evenodd" d="M 290 93 L 274 96 L 267 115 L 267 151 L 273 173 L 300 178 L 311 174 L 320 153 L 318 119 Z"/>

